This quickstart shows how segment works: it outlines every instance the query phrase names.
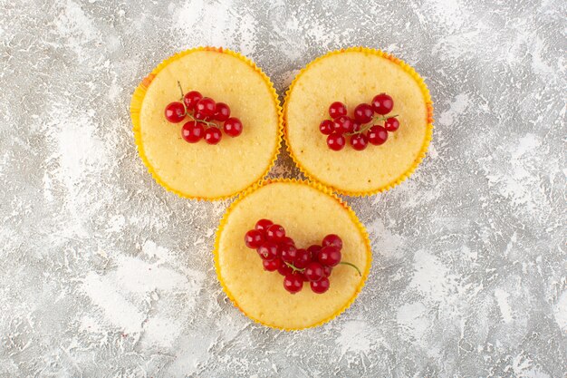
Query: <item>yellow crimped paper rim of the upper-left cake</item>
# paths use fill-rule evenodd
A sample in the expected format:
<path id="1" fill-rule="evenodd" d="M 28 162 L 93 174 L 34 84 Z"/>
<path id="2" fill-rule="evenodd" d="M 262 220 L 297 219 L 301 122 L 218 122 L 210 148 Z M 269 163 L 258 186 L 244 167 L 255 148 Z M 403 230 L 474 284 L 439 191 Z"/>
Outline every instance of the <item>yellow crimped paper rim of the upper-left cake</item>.
<path id="1" fill-rule="evenodd" d="M 280 145 L 282 144 L 282 139 L 283 139 L 283 108 L 282 108 L 282 105 L 280 103 L 277 92 L 275 92 L 274 83 L 252 60 L 245 57 L 241 53 L 235 53 L 234 51 L 225 49 L 223 47 L 200 46 L 200 47 L 195 47 L 195 48 L 192 48 L 192 49 L 182 51 L 180 53 L 176 53 L 176 54 L 168 57 L 168 59 L 164 60 L 163 62 L 159 63 L 151 71 L 151 73 L 148 74 L 148 76 L 146 76 L 144 79 L 142 79 L 141 82 L 139 82 L 138 87 L 136 87 L 136 90 L 132 93 L 132 98 L 131 98 L 131 101 L 130 101 L 130 118 L 132 120 L 132 125 L 133 125 L 132 131 L 134 132 L 134 141 L 136 143 L 136 147 L 138 149 L 140 159 L 143 161 L 144 165 L 148 169 L 148 171 L 151 174 L 151 176 L 153 177 L 153 179 L 155 179 L 156 182 L 158 182 L 159 185 L 161 185 L 163 188 L 177 194 L 179 197 L 183 197 L 183 198 L 186 198 L 186 199 L 197 199 L 197 200 L 229 199 L 229 198 L 232 198 L 232 197 L 238 195 L 238 193 L 243 192 L 245 189 L 240 189 L 240 190 L 237 190 L 233 193 L 229 193 L 229 194 L 226 194 L 226 195 L 223 195 L 223 196 L 203 197 L 203 196 L 195 196 L 195 195 L 192 195 L 190 193 L 185 193 L 185 192 L 182 192 L 178 189 L 171 188 L 168 185 L 167 182 L 165 182 L 163 179 L 161 179 L 159 177 L 159 175 L 156 173 L 156 171 L 154 170 L 152 165 L 149 163 L 149 160 L 148 160 L 146 153 L 144 151 L 143 143 L 141 141 L 139 112 L 141 111 L 142 103 L 144 102 L 144 97 L 146 96 L 146 92 L 148 92 L 149 85 L 154 80 L 154 78 L 158 75 L 158 73 L 161 70 L 163 70 L 169 63 L 175 62 L 176 60 L 184 57 L 185 55 L 187 55 L 189 53 L 196 53 L 196 52 L 199 52 L 199 51 L 212 51 L 212 52 L 216 52 L 216 53 L 227 53 L 231 56 L 234 56 L 235 58 L 238 58 L 240 61 L 251 66 L 255 70 L 256 73 L 259 73 L 260 76 L 262 77 L 262 79 L 264 80 L 264 82 L 266 83 L 266 85 L 268 86 L 270 92 L 272 93 L 272 95 L 274 97 L 274 104 L 275 104 L 276 110 L 277 110 L 277 118 L 278 118 L 278 125 L 277 125 L 277 132 L 276 132 L 277 141 L 275 143 L 274 151 L 272 153 L 272 160 L 267 165 L 267 167 L 264 170 L 264 172 L 262 173 L 262 175 L 260 175 L 260 177 L 258 179 L 255 179 L 245 189 L 249 188 L 250 186 L 253 186 L 256 183 L 261 182 L 265 178 L 265 176 L 268 174 L 268 172 L 272 169 L 272 167 L 274 167 L 275 160 L 277 159 L 277 156 L 278 156 L 278 153 L 279 153 L 279 150 L 280 150 Z"/>

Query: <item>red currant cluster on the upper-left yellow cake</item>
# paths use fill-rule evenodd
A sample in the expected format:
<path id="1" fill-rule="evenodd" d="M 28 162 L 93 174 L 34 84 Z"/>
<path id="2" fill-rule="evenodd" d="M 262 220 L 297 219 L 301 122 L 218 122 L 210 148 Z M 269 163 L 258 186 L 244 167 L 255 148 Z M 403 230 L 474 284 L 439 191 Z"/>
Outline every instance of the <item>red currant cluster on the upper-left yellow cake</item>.
<path id="1" fill-rule="evenodd" d="M 223 134 L 220 122 L 224 122 L 222 130 L 230 137 L 242 133 L 242 122 L 230 116 L 230 108 L 225 102 L 215 102 L 209 97 L 203 97 L 200 92 L 190 91 L 183 94 L 181 85 L 181 102 L 170 102 L 166 106 L 166 120 L 172 123 L 187 121 L 181 128 L 181 136 L 189 143 L 197 143 L 205 139 L 208 144 L 218 143 Z M 218 122 L 218 123 L 217 123 Z"/>

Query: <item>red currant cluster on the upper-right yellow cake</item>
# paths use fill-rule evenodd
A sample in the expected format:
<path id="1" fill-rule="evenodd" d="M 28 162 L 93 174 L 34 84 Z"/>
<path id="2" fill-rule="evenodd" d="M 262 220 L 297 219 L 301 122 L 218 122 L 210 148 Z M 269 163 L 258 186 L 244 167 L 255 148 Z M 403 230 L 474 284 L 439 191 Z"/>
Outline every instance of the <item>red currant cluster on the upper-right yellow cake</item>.
<path id="1" fill-rule="evenodd" d="M 354 118 L 347 115 L 347 106 L 342 102 L 332 102 L 329 107 L 330 120 L 319 125 L 319 131 L 327 137 L 327 146 L 331 150 L 342 150 L 346 138 L 351 137 L 354 150 L 364 150 L 368 143 L 380 146 L 388 139 L 388 131 L 397 131 L 399 121 L 396 116 L 386 117 L 394 108 L 394 101 L 386 93 L 374 96 L 371 103 L 360 103 L 354 108 Z M 379 114 L 374 117 L 374 113 Z M 384 126 L 375 124 L 384 121 Z"/>

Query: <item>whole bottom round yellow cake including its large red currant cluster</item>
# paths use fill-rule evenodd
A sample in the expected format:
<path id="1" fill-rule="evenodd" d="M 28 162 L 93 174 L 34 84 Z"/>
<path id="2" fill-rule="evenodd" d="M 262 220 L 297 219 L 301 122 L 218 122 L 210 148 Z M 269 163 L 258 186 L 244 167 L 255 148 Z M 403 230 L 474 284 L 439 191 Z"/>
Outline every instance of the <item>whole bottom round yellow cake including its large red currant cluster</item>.
<path id="1" fill-rule="evenodd" d="M 226 295 L 262 325 L 322 325 L 348 308 L 370 270 L 370 241 L 329 189 L 276 179 L 248 189 L 216 234 L 216 274 Z"/>

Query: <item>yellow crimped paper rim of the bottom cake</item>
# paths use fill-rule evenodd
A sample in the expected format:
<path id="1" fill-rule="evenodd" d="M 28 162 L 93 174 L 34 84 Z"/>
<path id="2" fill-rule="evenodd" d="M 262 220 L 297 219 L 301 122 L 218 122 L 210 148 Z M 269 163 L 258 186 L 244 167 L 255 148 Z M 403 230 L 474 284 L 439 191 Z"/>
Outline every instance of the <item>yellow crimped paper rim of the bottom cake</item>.
<path id="1" fill-rule="evenodd" d="M 360 232 L 360 235 L 363 237 L 364 246 L 366 247 L 366 257 L 368 259 L 368 264 L 367 264 L 366 268 L 364 269 L 364 271 L 362 273 L 362 278 L 360 279 L 360 284 L 359 284 L 359 286 L 357 286 L 357 288 L 356 288 L 354 294 L 351 296 L 351 298 L 344 305 L 342 305 L 341 308 L 338 311 L 334 312 L 332 315 L 326 317 L 322 321 L 313 323 L 312 325 L 306 325 L 304 327 L 299 327 L 299 328 L 281 327 L 281 326 L 278 326 L 278 325 L 270 325 L 270 324 L 262 322 L 259 319 L 256 319 L 252 315 L 247 314 L 245 312 L 245 310 L 238 305 L 238 303 L 235 299 L 235 296 L 232 295 L 232 293 L 230 292 L 230 290 L 226 286 L 226 283 L 225 283 L 225 281 L 224 281 L 224 279 L 223 279 L 223 277 L 220 273 L 220 262 L 219 262 L 219 258 L 218 258 L 219 247 L 220 247 L 220 237 L 223 233 L 223 230 L 225 229 L 226 222 L 227 222 L 228 218 L 230 217 L 232 210 L 238 205 L 238 203 L 240 201 L 245 199 L 248 195 L 254 193 L 258 189 L 262 189 L 265 186 L 271 185 L 271 184 L 274 184 L 274 183 L 290 183 L 290 184 L 295 184 L 295 185 L 307 185 L 307 186 L 309 186 L 313 189 L 317 189 L 317 190 L 321 191 L 323 194 L 326 194 L 326 195 L 332 197 L 332 199 L 335 199 L 349 213 L 351 220 L 354 222 L 354 224 L 356 225 L 356 227 L 358 228 L 358 230 Z M 313 182 L 313 181 L 309 181 L 309 180 L 301 180 L 301 179 L 266 179 L 262 182 L 256 183 L 254 186 L 252 186 L 252 187 L 244 190 L 243 192 L 241 192 L 241 194 L 237 197 L 237 199 L 235 199 L 235 201 L 226 209 L 225 215 L 220 220 L 220 224 L 218 226 L 218 229 L 216 230 L 214 257 L 215 257 L 216 277 L 217 277 L 218 281 L 220 282 L 220 285 L 222 286 L 223 291 L 225 292 L 226 296 L 228 296 L 228 298 L 233 303 L 233 305 L 235 305 L 236 308 L 238 308 L 248 318 L 252 319 L 255 323 L 260 324 L 260 325 L 265 325 L 265 326 L 268 326 L 268 327 L 271 327 L 271 328 L 274 328 L 274 329 L 280 329 L 280 330 L 283 330 L 283 331 L 300 331 L 300 330 L 303 330 L 303 329 L 316 327 L 316 326 L 319 326 L 319 325 L 323 325 L 327 322 L 330 322 L 335 317 L 341 315 L 347 308 L 349 308 L 352 305 L 352 303 L 357 298 L 357 296 L 359 296 L 359 293 L 362 290 L 362 287 L 366 284 L 366 280 L 367 280 L 367 278 L 370 274 L 370 266 L 372 265 L 372 250 L 371 250 L 371 247 L 370 247 L 370 237 L 368 235 L 368 232 L 366 231 L 366 228 L 360 222 L 360 219 L 357 217 L 354 210 L 352 210 L 352 208 L 346 202 L 342 201 L 339 197 L 337 197 L 337 195 L 334 194 L 332 192 L 332 190 L 329 189 L 328 187 L 325 187 L 318 182 Z"/>

